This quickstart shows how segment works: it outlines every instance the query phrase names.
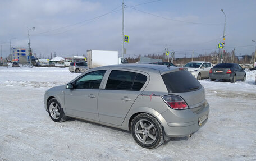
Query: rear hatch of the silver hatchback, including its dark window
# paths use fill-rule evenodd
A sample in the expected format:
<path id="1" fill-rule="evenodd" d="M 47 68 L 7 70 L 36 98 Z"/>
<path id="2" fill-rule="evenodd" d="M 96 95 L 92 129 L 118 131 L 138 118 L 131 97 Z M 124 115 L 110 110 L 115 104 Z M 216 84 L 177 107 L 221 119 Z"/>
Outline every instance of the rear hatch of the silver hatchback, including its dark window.
<path id="1" fill-rule="evenodd" d="M 204 88 L 189 71 L 179 68 L 176 71 L 162 73 L 162 78 L 168 94 L 181 96 L 194 113 L 206 107 Z"/>

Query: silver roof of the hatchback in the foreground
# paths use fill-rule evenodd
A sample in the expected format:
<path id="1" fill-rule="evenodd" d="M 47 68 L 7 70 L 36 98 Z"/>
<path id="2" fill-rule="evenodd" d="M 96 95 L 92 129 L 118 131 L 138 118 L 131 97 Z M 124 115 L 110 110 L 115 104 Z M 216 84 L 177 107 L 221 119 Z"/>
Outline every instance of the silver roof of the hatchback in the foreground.
<path id="1" fill-rule="evenodd" d="M 140 71 L 158 71 L 161 74 L 162 73 L 166 73 L 168 71 L 177 71 L 179 70 L 179 67 L 167 67 L 167 66 L 163 66 L 163 65 L 155 65 L 155 64 L 135 64 L 135 63 L 128 63 L 128 64 L 121 64 L 121 65 L 109 65 L 109 66 L 103 66 L 103 67 L 98 67 L 99 68 L 125 68 L 125 69 L 131 69 L 131 70 L 140 70 Z"/>

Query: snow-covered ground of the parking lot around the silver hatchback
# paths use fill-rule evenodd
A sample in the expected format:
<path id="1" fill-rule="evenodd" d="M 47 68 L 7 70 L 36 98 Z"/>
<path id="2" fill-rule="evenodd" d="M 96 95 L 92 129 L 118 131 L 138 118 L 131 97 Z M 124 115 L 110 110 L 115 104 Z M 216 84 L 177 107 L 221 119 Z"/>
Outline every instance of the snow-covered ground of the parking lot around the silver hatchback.
<path id="1" fill-rule="evenodd" d="M 49 118 L 45 90 L 79 73 L 0 67 L 0 160 L 256 160 L 256 71 L 246 73 L 235 84 L 200 80 L 211 110 L 206 125 L 189 139 L 149 150 L 127 131 Z"/>

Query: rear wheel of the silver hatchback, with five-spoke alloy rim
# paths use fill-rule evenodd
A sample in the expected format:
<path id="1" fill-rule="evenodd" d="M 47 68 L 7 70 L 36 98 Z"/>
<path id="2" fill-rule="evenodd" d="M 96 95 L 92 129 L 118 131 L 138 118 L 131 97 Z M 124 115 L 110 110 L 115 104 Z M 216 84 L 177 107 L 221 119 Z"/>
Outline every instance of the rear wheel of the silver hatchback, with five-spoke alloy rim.
<path id="1" fill-rule="evenodd" d="M 153 149 L 163 144 L 161 123 L 148 113 L 140 113 L 134 117 L 130 130 L 134 140 L 143 148 Z"/>

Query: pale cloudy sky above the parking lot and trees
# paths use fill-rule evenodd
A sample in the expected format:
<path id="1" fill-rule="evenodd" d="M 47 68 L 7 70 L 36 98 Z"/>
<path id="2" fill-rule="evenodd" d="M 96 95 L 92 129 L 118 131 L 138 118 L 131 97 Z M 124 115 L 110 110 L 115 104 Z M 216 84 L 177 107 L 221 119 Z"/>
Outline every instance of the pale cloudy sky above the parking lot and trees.
<path id="1" fill-rule="evenodd" d="M 162 54 L 175 50 L 176 58 L 218 51 L 226 14 L 225 49 L 252 54 L 256 43 L 256 1 L 125 2 L 125 57 Z M 147 3 L 150 2 L 150 3 Z M 107 14 L 106 14 L 107 13 Z M 0 43 L 6 57 L 12 46 L 31 48 L 37 57 L 70 57 L 86 50 L 122 49 L 122 0 L 0 1 Z"/>

